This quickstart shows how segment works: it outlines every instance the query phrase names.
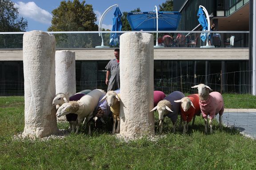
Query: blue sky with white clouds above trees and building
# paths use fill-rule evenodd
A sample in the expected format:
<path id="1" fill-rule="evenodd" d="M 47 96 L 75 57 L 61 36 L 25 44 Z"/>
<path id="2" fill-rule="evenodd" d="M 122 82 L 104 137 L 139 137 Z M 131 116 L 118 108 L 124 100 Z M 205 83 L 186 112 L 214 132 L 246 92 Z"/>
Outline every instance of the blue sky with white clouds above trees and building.
<path id="1" fill-rule="evenodd" d="M 52 10 L 60 6 L 61 0 L 11 0 L 15 3 L 16 8 L 28 21 L 26 31 L 40 30 L 47 31 L 51 26 Z M 67 1 L 67 0 L 66 0 Z M 80 0 L 81 2 L 82 0 Z M 159 5 L 166 0 L 85 0 L 86 4 L 92 4 L 94 13 L 97 16 L 96 24 L 99 24 L 100 17 L 104 11 L 118 4 L 121 12 L 130 12 L 136 8 L 140 8 L 142 12 L 153 11 L 156 5 L 159 10 Z M 102 27 L 111 30 L 112 18 L 115 8 L 109 11 L 103 20 Z"/>

